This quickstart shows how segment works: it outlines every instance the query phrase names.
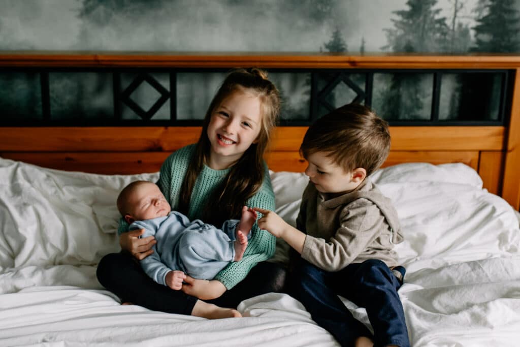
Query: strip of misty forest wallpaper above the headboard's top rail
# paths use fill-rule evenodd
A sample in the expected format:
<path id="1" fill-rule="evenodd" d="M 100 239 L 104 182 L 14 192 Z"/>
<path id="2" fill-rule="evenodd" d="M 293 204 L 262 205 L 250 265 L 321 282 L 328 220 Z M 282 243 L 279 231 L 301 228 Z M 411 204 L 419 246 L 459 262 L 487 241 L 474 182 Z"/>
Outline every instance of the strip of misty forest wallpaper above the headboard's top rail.
<path id="1" fill-rule="evenodd" d="M 0 50 L 520 52 L 520 0 L 0 0 Z"/>

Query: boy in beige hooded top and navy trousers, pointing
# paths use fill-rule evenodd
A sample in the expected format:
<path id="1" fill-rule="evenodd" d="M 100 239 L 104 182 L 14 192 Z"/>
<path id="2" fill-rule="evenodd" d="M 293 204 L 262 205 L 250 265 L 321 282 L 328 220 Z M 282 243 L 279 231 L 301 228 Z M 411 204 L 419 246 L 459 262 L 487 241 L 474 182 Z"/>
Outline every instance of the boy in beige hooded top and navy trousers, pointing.
<path id="1" fill-rule="evenodd" d="M 301 254 L 290 293 L 343 346 L 410 345 L 397 294 L 405 273 L 393 250 L 403 239 L 397 212 L 369 178 L 389 148 L 388 124 L 371 109 L 340 107 L 311 125 L 300 147 L 310 182 L 297 228 L 255 209 L 264 214 L 258 227 Z M 366 308 L 373 335 L 337 295 Z"/>

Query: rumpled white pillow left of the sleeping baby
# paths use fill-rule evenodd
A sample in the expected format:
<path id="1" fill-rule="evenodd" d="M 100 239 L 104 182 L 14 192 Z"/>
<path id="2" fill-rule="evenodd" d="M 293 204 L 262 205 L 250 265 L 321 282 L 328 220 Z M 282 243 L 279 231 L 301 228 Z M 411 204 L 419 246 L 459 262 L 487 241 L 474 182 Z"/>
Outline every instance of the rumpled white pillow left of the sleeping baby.
<path id="1" fill-rule="evenodd" d="M 95 264 L 119 251 L 119 191 L 158 174 L 97 175 L 0 158 L 0 270 Z"/>

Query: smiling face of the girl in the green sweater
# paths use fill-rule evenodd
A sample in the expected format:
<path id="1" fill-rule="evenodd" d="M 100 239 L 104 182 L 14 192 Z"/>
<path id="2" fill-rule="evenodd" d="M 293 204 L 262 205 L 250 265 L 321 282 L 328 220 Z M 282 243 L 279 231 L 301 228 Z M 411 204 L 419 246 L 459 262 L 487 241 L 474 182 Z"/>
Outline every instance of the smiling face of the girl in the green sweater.
<path id="1" fill-rule="evenodd" d="M 255 143 L 262 128 L 260 108 L 258 97 L 241 91 L 232 93 L 217 106 L 207 127 L 210 168 L 228 168 Z"/>

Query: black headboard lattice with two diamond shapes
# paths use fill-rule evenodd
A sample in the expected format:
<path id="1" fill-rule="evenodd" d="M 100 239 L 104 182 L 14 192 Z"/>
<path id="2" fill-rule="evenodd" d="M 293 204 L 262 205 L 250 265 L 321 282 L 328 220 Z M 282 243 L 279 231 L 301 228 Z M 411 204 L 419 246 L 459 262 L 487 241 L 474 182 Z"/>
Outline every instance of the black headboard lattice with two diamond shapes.
<path id="1" fill-rule="evenodd" d="M 178 105 L 178 95 L 177 95 L 177 73 L 214 73 L 214 72 L 226 72 L 225 69 L 145 69 L 145 68 L 135 68 L 135 69 L 117 69 L 113 68 L 109 69 L 80 69 L 80 68 L 70 68 L 70 69 L 37 69 L 37 68 L 3 68 L 0 69 L 0 125 L 1 126 L 44 126 L 44 125 L 54 125 L 54 126 L 81 126 L 81 125 L 90 125 L 90 126 L 141 126 L 141 125 L 154 125 L 154 126 L 177 126 L 177 125 L 201 125 L 202 120 L 198 119 L 183 119 L 180 120 L 177 118 L 177 105 Z M 88 115 L 85 117 L 85 112 L 83 112 L 82 117 L 79 117 L 78 114 L 81 112 L 70 112 L 70 118 L 64 119 L 55 118 L 53 114 L 53 110 L 50 105 L 53 100 L 51 100 L 51 95 L 56 95 L 56 92 L 51 93 L 50 89 L 53 87 L 49 83 L 49 74 L 53 74 L 54 72 L 60 72 L 60 75 L 67 75 L 67 72 L 73 74 L 81 74 L 82 72 L 87 72 L 92 75 L 92 73 L 99 74 L 111 74 L 112 75 L 112 100 L 113 106 L 109 109 L 105 109 L 102 111 L 98 111 L 99 114 Z M 166 88 L 163 84 L 161 84 L 157 78 L 154 78 L 154 73 L 166 73 L 169 80 L 170 85 L 169 88 Z M 27 88 L 30 89 L 28 93 L 38 93 L 40 94 L 40 101 L 38 103 L 38 107 L 41 107 L 41 112 L 37 112 L 41 114 L 40 116 L 35 115 L 35 112 L 30 112 L 34 107 L 19 107 L 23 106 L 21 103 L 27 102 L 27 98 L 19 98 L 16 99 L 17 91 L 14 90 L 16 88 L 12 87 L 15 83 L 9 84 L 6 82 L 7 80 L 11 81 L 12 78 L 6 78 L 9 74 L 31 74 L 34 76 L 35 74 L 40 76 L 40 81 L 38 85 L 28 85 Z M 128 84 L 126 88 L 122 88 L 121 75 L 125 73 L 127 75 L 133 75 L 131 82 Z M 386 75 L 394 75 L 394 76 L 413 76 L 414 74 L 423 74 L 423 75 L 431 75 L 432 76 L 432 85 L 429 91 L 425 91 L 428 95 L 430 95 L 431 99 L 431 107 L 428 108 L 428 119 L 400 119 L 399 117 L 389 117 L 388 121 L 394 125 L 504 125 L 504 120 L 507 117 L 504 117 L 506 112 L 510 111 L 510 103 L 511 103 L 511 91 L 512 91 L 512 71 L 510 70 L 453 70 L 453 69 L 438 69 L 438 70 L 382 70 L 382 69 L 371 69 L 371 70 L 357 70 L 357 69 L 270 69 L 269 73 L 272 75 L 273 73 L 295 73 L 300 75 L 309 76 L 306 78 L 305 84 L 307 87 L 310 87 L 310 93 L 308 95 L 308 112 L 303 111 L 305 114 L 298 114 L 297 117 L 285 118 L 283 117 L 283 109 L 282 109 L 282 117 L 281 117 L 281 125 L 308 125 L 316 118 L 320 117 L 324 111 L 331 111 L 337 105 L 332 105 L 330 101 L 331 93 L 334 93 L 335 88 L 338 86 L 348 88 L 349 95 L 354 93 L 354 98 L 341 98 L 337 100 L 341 103 L 348 102 L 362 102 L 365 105 L 373 106 L 374 103 L 374 91 L 377 89 L 378 85 L 374 82 L 374 75 L 386 74 Z M 352 75 L 356 74 L 357 79 L 353 79 Z M 465 102 L 465 114 L 457 114 L 453 119 L 439 119 L 439 109 L 441 108 L 440 100 L 443 97 L 441 95 L 441 88 L 443 88 L 443 76 L 448 74 L 458 74 L 461 76 L 461 80 L 463 81 L 463 87 L 459 92 L 460 98 Z M 325 77 L 324 77 L 325 76 Z M 362 76 L 362 78 L 360 78 Z M 4 81 L 3 81 L 4 79 Z M 498 87 L 493 89 L 493 93 L 497 94 L 497 96 L 490 97 L 486 95 L 491 89 L 486 88 L 486 85 L 489 84 L 489 81 L 493 79 L 498 79 L 499 84 Z M 361 81 L 362 80 L 362 81 Z M 398 80 L 397 78 L 395 80 Z M 413 79 L 412 79 L 413 80 Z M 318 83 L 318 81 L 324 81 L 324 83 Z M 132 95 L 136 90 L 142 86 L 143 83 L 147 83 L 150 85 L 154 91 L 159 93 L 159 97 L 153 101 L 153 104 L 149 109 L 145 109 L 143 105 L 140 105 L 139 102 L 136 102 L 132 98 Z M 361 84 L 360 84 L 361 83 Z M 362 85 L 364 83 L 364 86 Z M 18 84 L 16 84 L 18 85 Z M 11 88 L 12 90 L 10 90 Z M 388 86 L 388 88 L 392 88 L 392 85 Z M 471 88 L 476 88 L 471 89 Z M 482 91 L 478 92 L 478 88 L 481 88 Z M 196 89 L 196 88 L 192 88 Z M 477 92 L 475 92 L 477 91 Z M 497 92 L 498 91 L 498 92 Z M 61 93 L 67 94 L 67 91 L 62 91 Z M 397 93 L 397 92 L 396 92 Z M 479 94 L 480 93 L 480 94 Z M 27 93 L 26 93 L 27 94 Z M 76 93 L 78 94 L 78 93 Z M 210 94 L 210 93 L 205 93 Z M 407 96 L 398 95 L 398 97 L 406 101 Z M 65 96 L 65 95 L 64 95 Z M 379 95 L 375 95 L 379 97 Z M 95 103 L 94 96 L 84 96 L 87 98 L 87 102 L 92 99 L 93 104 Z M 197 97 L 197 96 L 193 96 Z M 410 96 L 410 97 L 413 97 Z M 446 97 L 446 96 L 444 96 Z M 289 96 L 290 98 L 290 96 Z M 30 98 L 31 100 L 34 98 Z M 170 100 L 170 115 L 167 119 L 158 119 L 158 117 L 154 117 L 158 113 L 158 111 L 166 104 L 166 102 Z M 401 100 L 402 101 L 402 100 Z M 20 104 L 18 105 L 17 102 Z M 203 101 L 209 104 L 209 101 Z M 397 102 L 397 101 L 396 101 Z M 473 105 L 474 104 L 474 105 Z M 133 112 L 138 115 L 139 119 L 123 119 L 122 117 L 122 108 L 121 106 L 125 105 Z M 446 105 L 443 104 L 443 105 Z M 467 105 L 470 105 L 469 107 Z M 391 103 L 390 103 L 390 106 Z M 205 106 L 207 107 L 207 106 Z M 489 112 L 489 110 L 496 110 L 496 115 L 493 115 L 493 118 L 486 118 L 485 112 Z M 25 111 L 23 111 L 25 110 Z M 29 111 L 27 111 L 29 110 Z M 300 112 L 300 111 L 298 111 Z M 65 112 L 67 113 L 67 112 Z M 478 117 L 475 116 L 476 113 L 479 113 Z M 480 117 L 484 114 L 484 117 Z M 479 118 L 480 117 L 480 118 Z"/>

